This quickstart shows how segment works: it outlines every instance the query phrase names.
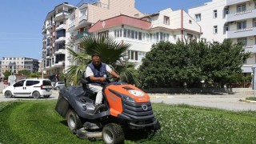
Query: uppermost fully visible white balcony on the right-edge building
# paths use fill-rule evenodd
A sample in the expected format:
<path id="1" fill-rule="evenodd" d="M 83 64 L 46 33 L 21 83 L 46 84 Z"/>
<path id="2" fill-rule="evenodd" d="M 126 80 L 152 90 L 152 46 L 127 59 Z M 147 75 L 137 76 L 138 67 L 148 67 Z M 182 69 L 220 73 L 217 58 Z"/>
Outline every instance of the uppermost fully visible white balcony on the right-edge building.
<path id="1" fill-rule="evenodd" d="M 233 21 L 238 21 L 242 19 L 255 18 L 255 15 L 256 15 L 256 9 L 241 11 L 235 14 L 227 14 L 226 22 L 233 22 Z"/>

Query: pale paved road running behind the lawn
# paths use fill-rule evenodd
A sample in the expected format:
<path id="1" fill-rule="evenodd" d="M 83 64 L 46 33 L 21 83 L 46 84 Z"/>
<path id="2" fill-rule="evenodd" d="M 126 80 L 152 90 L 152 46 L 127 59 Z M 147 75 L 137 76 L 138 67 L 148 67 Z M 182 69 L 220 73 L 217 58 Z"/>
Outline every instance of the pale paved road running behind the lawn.
<path id="1" fill-rule="evenodd" d="M 0 82 L 0 91 L 5 87 Z M 187 104 L 192 106 L 207 106 L 225 110 L 256 110 L 256 103 L 241 102 L 247 97 L 253 97 L 254 94 L 222 94 L 222 95 L 210 95 L 210 94 L 150 94 L 151 102 L 164 102 L 167 104 Z M 50 98 L 45 99 L 57 99 L 58 90 L 53 90 L 53 94 Z M 18 99 L 34 100 L 34 98 L 5 98 L 3 94 L 0 94 L 0 102 L 13 101 Z"/>

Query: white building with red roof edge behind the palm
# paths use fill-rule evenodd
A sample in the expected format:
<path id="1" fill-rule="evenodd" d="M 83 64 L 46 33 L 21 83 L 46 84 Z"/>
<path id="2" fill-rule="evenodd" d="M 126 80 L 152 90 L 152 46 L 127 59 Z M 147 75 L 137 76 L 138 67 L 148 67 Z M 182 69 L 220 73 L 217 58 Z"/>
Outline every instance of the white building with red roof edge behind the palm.
<path id="1" fill-rule="evenodd" d="M 98 21 L 91 26 L 92 34 L 107 34 L 117 42 L 130 43 L 127 59 L 135 63 L 135 68 L 142 64 L 142 58 L 151 46 L 160 41 L 177 42 L 199 39 L 201 27 L 184 10 L 173 11 L 170 8 L 161 10 L 142 18 L 124 14 Z"/>

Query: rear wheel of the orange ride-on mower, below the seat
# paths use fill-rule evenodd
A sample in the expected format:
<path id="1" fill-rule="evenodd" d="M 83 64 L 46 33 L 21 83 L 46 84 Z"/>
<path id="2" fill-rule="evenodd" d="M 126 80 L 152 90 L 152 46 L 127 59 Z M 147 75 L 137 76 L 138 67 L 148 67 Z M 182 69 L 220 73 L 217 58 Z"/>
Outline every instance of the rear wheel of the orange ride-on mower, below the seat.
<path id="1" fill-rule="evenodd" d="M 82 120 L 78 116 L 78 114 L 76 114 L 74 112 L 74 110 L 69 110 L 67 112 L 67 114 L 66 114 L 66 122 L 67 122 L 67 126 L 69 126 L 70 130 L 73 133 L 76 133 L 77 130 L 82 128 Z"/>

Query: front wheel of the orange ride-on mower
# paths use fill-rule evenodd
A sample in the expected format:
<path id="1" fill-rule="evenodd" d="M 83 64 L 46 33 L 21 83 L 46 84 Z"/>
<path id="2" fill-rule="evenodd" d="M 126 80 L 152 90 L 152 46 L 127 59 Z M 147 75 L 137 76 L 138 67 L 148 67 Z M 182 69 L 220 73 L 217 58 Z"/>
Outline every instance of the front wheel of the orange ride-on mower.
<path id="1" fill-rule="evenodd" d="M 121 126 L 116 123 L 109 123 L 103 127 L 102 139 L 106 144 L 124 143 L 125 134 Z"/>

